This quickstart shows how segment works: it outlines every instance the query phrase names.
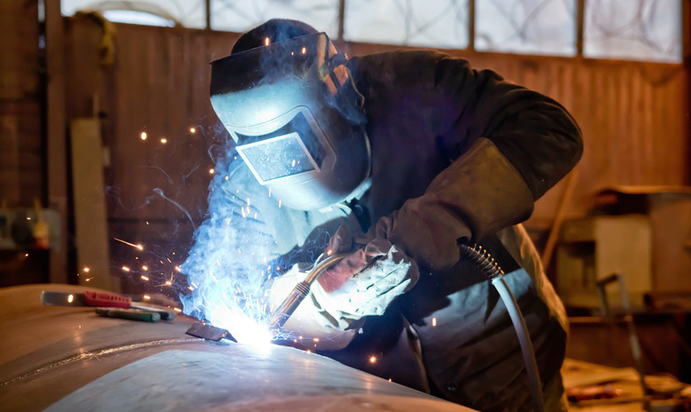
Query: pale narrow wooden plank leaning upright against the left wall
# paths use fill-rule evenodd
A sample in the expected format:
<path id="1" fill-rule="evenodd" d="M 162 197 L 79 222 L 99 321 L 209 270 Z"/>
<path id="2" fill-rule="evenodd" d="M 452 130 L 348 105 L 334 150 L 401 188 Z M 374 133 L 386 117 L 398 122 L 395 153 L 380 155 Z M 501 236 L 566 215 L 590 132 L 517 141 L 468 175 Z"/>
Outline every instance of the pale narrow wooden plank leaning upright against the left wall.
<path id="1" fill-rule="evenodd" d="M 78 280 L 79 284 L 119 292 L 120 284 L 110 270 L 100 128 L 95 118 L 70 122 Z"/>

